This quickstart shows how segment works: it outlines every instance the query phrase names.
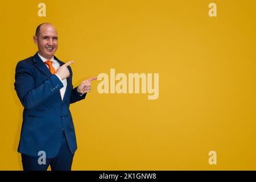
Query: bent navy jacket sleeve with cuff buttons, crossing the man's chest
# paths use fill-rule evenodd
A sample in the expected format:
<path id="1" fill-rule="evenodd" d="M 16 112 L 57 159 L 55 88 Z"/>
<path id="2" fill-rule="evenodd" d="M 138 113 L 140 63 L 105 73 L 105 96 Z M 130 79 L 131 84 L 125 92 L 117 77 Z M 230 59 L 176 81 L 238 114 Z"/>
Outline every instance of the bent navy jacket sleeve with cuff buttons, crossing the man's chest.
<path id="1" fill-rule="evenodd" d="M 56 75 L 52 75 L 35 87 L 31 66 L 20 61 L 16 65 L 14 88 L 22 105 L 26 109 L 32 109 L 52 94 L 59 92 L 63 88 L 63 83 Z"/>

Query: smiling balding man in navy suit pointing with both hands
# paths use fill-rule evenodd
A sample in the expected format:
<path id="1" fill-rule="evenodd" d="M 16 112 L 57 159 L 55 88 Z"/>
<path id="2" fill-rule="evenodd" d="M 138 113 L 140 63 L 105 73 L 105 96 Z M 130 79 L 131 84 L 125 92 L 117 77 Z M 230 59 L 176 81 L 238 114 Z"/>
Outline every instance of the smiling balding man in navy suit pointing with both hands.
<path id="1" fill-rule="evenodd" d="M 73 61 L 54 56 L 58 36 L 51 23 L 40 24 L 33 39 L 38 52 L 19 61 L 15 72 L 14 87 L 24 107 L 18 152 L 25 171 L 71 170 L 77 144 L 69 105 L 83 100 L 97 77 L 73 88 Z"/>

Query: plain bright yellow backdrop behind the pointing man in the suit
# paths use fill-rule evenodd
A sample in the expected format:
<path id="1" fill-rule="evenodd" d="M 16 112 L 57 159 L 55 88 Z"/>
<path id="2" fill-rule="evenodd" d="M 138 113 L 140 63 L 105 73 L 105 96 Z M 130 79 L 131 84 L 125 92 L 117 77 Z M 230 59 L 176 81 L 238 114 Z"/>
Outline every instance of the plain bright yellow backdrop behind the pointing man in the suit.
<path id="1" fill-rule="evenodd" d="M 38 4 L 46 3 L 46 17 Z M 217 4 L 217 17 L 208 5 Z M 159 98 L 99 94 L 71 105 L 73 170 L 256 169 L 256 1 L 1 1 L 0 169 L 20 170 L 15 66 L 53 23 L 74 86 L 99 73 L 159 73 Z M 217 152 L 209 165 L 208 152 Z"/>

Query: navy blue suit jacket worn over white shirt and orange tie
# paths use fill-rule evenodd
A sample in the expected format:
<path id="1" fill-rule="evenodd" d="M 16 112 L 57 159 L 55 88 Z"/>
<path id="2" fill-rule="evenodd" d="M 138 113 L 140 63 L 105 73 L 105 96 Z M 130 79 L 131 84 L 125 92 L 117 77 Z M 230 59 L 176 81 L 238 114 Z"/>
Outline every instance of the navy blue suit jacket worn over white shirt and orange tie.
<path id="1" fill-rule="evenodd" d="M 64 64 L 57 57 L 54 59 L 60 66 Z M 45 151 L 46 158 L 53 158 L 59 152 L 63 130 L 70 151 L 72 154 L 76 151 L 69 105 L 84 99 L 86 94 L 80 96 L 77 88 L 73 89 L 72 70 L 69 66 L 68 69 L 70 76 L 62 101 L 60 89 L 63 83 L 49 72 L 38 53 L 16 65 L 14 87 L 24 107 L 18 152 L 38 156 L 39 151 Z"/>

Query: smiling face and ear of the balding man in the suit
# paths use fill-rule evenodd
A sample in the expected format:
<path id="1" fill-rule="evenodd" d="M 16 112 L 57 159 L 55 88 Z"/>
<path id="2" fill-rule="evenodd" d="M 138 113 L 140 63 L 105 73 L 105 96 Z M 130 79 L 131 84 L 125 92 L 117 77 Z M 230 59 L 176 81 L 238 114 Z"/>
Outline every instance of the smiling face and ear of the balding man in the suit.
<path id="1" fill-rule="evenodd" d="M 40 27 L 40 35 L 34 36 L 34 42 L 38 46 L 38 52 L 41 56 L 52 59 L 58 48 L 56 28 L 51 24 L 43 24 Z"/>

